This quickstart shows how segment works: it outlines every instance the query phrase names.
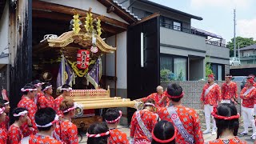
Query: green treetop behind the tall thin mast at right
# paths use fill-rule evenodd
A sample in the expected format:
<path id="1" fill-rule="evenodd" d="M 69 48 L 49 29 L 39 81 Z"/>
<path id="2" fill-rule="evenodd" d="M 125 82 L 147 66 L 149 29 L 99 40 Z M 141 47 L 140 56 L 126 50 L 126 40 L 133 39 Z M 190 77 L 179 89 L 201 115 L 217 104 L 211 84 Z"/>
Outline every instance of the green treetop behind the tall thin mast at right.
<path id="1" fill-rule="evenodd" d="M 254 41 L 254 38 L 242 38 L 242 37 L 236 37 L 235 38 L 235 47 L 236 50 L 238 50 L 238 43 L 240 48 L 245 46 L 250 46 L 256 43 Z M 230 57 L 234 57 L 234 38 L 231 39 L 231 42 L 227 42 L 227 47 L 230 48 Z M 236 53 L 238 54 L 238 53 Z"/>

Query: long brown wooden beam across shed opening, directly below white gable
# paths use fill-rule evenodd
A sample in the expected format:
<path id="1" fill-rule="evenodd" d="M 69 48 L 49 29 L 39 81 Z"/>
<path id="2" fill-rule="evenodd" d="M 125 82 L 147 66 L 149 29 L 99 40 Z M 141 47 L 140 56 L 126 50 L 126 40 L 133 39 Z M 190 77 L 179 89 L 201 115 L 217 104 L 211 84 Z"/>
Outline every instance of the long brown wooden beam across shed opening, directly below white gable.
<path id="1" fill-rule="evenodd" d="M 86 17 L 86 13 L 88 12 L 87 10 L 76 9 L 70 6 L 62 6 L 62 5 L 50 3 L 50 2 L 33 1 L 33 10 L 49 10 L 51 12 L 74 15 L 74 13 L 72 12 L 72 10 L 74 9 L 78 14 L 80 14 L 80 16 Z M 128 27 L 128 24 L 124 22 L 120 22 L 114 18 L 108 18 L 106 16 L 102 16 L 94 13 L 92 14 L 93 14 L 93 18 L 100 18 L 102 22 L 110 23 L 111 25 L 114 25 L 114 26 L 119 26 L 125 30 Z"/>

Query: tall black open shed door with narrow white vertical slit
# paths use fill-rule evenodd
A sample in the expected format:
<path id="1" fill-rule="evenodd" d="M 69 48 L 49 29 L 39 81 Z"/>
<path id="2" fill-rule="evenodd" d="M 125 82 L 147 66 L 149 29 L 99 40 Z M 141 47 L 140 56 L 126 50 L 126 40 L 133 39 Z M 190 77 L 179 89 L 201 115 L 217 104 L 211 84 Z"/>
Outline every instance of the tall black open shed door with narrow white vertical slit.
<path id="1" fill-rule="evenodd" d="M 159 17 L 152 18 L 127 31 L 127 95 L 131 100 L 154 93 L 160 84 Z M 141 66 L 141 33 L 144 34 L 144 67 Z M 128 109 L 128 121 L 134 109 Z"/>

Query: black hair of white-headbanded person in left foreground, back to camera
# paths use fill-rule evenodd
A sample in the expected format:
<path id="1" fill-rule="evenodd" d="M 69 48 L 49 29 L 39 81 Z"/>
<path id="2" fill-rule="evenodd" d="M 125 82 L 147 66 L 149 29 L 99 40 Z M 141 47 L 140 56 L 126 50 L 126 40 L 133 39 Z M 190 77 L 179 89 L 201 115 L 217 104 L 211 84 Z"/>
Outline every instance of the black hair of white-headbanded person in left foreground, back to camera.
<path id="1" fill-rule="evenodd" d="M 34 114 L 34 120 L 35 122 L 40 125 L 44 126 L 50 122 L 54 121 L 56 112 L 54 109 L 50 107 L 42 108 L 39 109 L 35 114 Z M 38 127 L 39 131 L 47 131 L 50 130 L 51 126 L 48 127 Z"/>

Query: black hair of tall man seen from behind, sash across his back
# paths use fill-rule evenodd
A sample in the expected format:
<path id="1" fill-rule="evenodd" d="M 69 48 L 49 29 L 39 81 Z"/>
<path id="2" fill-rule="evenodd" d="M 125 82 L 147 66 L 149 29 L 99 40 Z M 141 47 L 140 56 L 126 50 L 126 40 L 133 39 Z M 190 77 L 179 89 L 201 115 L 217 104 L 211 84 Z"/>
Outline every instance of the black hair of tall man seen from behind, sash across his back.
<path id="1" fill-rule="evenodd" d="M 179 86 L 177 83 L 170 84 L 167 87 L 167 94 L 171 96 L 179 96 L 182 94 L 182 86 Z M 181 98 L 170 98 L 174 102 L 179 102 Z"/>

